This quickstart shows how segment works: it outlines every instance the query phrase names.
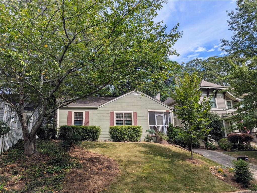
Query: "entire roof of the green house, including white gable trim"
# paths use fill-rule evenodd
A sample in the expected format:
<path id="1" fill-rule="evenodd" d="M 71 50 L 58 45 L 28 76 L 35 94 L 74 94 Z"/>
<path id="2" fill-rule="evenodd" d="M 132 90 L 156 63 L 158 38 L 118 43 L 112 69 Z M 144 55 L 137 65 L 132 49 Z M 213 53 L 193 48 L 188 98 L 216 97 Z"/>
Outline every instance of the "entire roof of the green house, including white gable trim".
<path id="1" fill-rule="evenodd" d="M 143 92 L 135 92 L 135 91 L 131 91 L 131 92 L 128 92 L 126 94 L 123 94 L 121 96 L 118 96 L 118 97 L 106 97 L 106 96 L 88 96 L 86 99 L 80 99 L 80 100 L 77 100 L 76 102 L 72 102 L 64 107 L 78 107 L 78 108 L 99 108 L 99 107 L 103 107 L 104 105 L 110 103 L 110 102 L 113 102 L 117 99 L 120 99 L 122 98 L 123 96 L 126 96 L 128 94 L 133 94 L 133 95 L 144 95 L 160 104 L 162 104 L 163 106 L 171 109 L 171 107 L 169 107 L 167 104 L 157 100 L 157 99 L 154 99 L 152 98 L 151 96 L 148 96 L 147 94 L 144 94 Z"/>

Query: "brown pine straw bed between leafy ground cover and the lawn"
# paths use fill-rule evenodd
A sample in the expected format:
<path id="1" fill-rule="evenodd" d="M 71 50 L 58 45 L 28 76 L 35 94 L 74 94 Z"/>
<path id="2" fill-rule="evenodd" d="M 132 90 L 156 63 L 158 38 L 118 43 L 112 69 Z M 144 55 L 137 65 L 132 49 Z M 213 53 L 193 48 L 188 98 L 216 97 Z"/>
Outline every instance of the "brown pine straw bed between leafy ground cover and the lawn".
<path id="1" fill-rule="evenodd" d="M 72 156 L 80 159 L 81 169 L 72 169 L 65 178 L 63 192 L 99 192 L 107 188 L 118 174 L 117 163 L 100 154 L 77 147 Z"/>

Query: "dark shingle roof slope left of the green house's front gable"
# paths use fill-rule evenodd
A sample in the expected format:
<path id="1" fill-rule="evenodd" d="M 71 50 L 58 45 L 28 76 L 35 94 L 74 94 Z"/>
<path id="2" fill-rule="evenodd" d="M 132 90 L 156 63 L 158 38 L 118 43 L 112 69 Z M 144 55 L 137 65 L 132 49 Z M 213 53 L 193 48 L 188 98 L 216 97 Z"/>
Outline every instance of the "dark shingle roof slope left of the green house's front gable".
<path id="1" fill-rule="evenodd" d="M 108 101 L 115 99 L 116 97 L 107 96 L 88 96 L 86 99 L 80 99 L 76 102 L 68 104 L 68 107 L 98 107 Z"/>

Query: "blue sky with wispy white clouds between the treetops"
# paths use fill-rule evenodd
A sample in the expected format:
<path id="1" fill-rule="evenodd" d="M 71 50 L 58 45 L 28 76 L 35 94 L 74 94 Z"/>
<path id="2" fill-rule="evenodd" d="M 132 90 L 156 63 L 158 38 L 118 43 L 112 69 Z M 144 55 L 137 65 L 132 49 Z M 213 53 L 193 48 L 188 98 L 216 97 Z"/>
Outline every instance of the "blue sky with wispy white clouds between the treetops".
<path id="1" fill-rule="evenodd" d="M 182 38 L 174 46 L 180 56 L 170 56 L 170 60 L 186 63 L 197 57 L 224 56 L 220 39 L 231 40 L 232 36 L 226 11 L 235 7 L 235 1 L 169 1 L 163 4 L 154 21 L 163 20 L 168 31 L 180 23 L 179 31 L 183 31 Z"/>

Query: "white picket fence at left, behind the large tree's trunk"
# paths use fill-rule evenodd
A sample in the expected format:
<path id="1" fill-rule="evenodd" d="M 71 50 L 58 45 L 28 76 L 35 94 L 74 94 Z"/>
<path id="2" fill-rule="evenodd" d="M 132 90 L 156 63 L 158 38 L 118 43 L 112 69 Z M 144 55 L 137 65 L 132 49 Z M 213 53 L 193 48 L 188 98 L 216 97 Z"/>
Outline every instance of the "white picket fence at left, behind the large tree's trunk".
<path id="1" fill-rule="evenodd" d="M 15 143 L 17 143 L 19 141 L 19 139 L 23 139 L 23 134 L 22 134 L 22 128 L 21 127 L 17 127 L 16 129 L 13 128 L 4 137 L 1 135 L 1 138 L 0 138 L 0 150 L 1 150 L 0 154 L 4 151 L 8 151 L 9 148 L 11 148 Z"/>

